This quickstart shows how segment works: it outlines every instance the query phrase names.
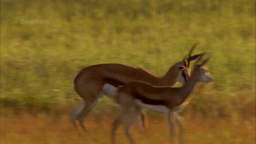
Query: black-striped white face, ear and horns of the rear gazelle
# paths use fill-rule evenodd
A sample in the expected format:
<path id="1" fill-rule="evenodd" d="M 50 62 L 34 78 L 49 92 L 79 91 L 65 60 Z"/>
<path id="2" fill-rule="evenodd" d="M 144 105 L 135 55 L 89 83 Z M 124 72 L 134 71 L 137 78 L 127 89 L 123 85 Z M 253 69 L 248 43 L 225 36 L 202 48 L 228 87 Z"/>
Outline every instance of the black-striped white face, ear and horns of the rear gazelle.
<path id="1" fill-rule="evenodd" d="M 189 54 L 188 54 L 188 58 L 185 58 L 182 61 L 179 61 L 174 64 L 175 69 L 178 72 L 176 81 L 179 81 L 182 85 L 185 85 L 187 83 L 187 81 L 190 79 L 190 71 L 191 71 L 190 62 L 195 61 L 200 56 L 202 56 L 202 54 L 197 54 L 197 55 L 191 56 L 191 54 L 193 53 L 193 50 L 196 48 L 196 46 L 198 44 L 199 43 L 195 43 L 191 47 Z"/>

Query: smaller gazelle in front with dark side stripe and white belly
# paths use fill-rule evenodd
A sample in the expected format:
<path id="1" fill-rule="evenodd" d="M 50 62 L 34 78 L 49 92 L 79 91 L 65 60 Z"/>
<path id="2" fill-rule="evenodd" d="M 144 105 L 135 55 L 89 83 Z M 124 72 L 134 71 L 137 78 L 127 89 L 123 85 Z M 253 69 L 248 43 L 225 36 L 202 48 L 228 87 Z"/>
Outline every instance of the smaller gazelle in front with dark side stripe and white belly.
<path id="1" fill-rule="evenodd" d="M 165 113 L 167 115 L 167 122 L 170 130 L 170 141 L 172 142 L 173 138 L 171 137 L 172 127 L 170 123 L 170 114 L 173 112 L 175 107 L 182 105 L 189 96 L 191 97 L 191 93 L 196 91 L 194 89 L 198 88 L 201 82 L 209 83 L 213 80 L 208 68 L 202 67 L 202 65 L 206 64 L 208 60 L 209 58 L 207 58 L 202 64 L 195 65 L 195 69 L 191 74 L 190 79 L 182 87 L 158 87 L 142 81 L 132 81 L 124 86 L 118 86 L 117 89 L 119 90 L 116 91 L 118 93 L 116 101 L 121 105 L 122 113 L 113 123 L 112 144 L 115 143 L 116 129 L 127 118 L 131 118 L 131 121 L 125 126 L 125 133 L 129 138 L 130 143 L 135 143 L 129 133 L 129 129 L 135 118 L 140 114 L 141 108 Z M 179 139 L 180 143 L 183 143 L 182 139 L 183 136 Z"/>

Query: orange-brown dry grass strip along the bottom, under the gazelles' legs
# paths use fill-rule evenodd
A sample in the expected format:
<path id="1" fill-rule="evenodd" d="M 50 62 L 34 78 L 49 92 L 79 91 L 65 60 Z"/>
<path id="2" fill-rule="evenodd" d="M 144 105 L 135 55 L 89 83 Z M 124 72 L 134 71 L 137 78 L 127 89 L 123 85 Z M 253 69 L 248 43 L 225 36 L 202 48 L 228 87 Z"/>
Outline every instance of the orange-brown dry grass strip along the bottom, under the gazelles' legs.
<path id="1" fill-rule="evenodd" d="M 3 110 L 3 109 L 2 109 Z M 23 113 L 18 117 L 1 115 L 1 144 L 12 143 L 110 143 L 112 122 L 117 115 L 91 114 L 88 117 L 89 133 L 80 128 L 75 130 L 68 115 L 53 120 L 45 115 L 37 118 Z M 255 117 L 248 121 L 228 121 L 220 118 L 203 119 L 202 116 L 184 117 L 186 129 L 184 143 L 255 143 Z M 215 124 L 215 125 L 214 125 Z M 148 117 L 149 128 L 140 134 L 133 125 L 133 136 L 139 144 L 169 143 L 168 129 L 165 119 Z M 177 128 L 177 126 L 175 126 Z M 176 136 L 177 136 L 177 129 Z M 128 143 L 124 135 L 123 125 L 117 133 L 117 143 Z"/>

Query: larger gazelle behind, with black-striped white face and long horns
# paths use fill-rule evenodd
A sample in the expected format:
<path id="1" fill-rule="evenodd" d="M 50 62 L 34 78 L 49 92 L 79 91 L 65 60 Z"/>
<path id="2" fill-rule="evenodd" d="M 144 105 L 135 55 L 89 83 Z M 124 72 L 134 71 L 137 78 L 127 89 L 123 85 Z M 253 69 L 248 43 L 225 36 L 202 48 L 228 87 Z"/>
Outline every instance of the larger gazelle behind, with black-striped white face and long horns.
<path id="1" fill-rule="evenodd" d="M 128 82 L 140 80 L 156 86 L 172 86 L 179 81 L 184 85 L 190 78 L 190 62 L 201 56 L 201 54 L 191 56 L 197 45 L 198 43 L 191 47 L 187 59 L 175 63 L 162 78 L 155 77 L 144 69 L 122 64 L 99 64 L 82 69 L 73 81 L 73 89 L 83 98 L 83 101 L 71 112 L 73 124 L 76 126 L 75 120 L 77 119 L 81 127 L 86 130 L 83 119 L 97 105 L 98 100 L 103 95 L 114 98 L 116 87 Z M 145 127 L 145 113 L 141 112 L 138 119 L 142 120 Z M 180 122 L 178 117 L 176 120 Z"/>

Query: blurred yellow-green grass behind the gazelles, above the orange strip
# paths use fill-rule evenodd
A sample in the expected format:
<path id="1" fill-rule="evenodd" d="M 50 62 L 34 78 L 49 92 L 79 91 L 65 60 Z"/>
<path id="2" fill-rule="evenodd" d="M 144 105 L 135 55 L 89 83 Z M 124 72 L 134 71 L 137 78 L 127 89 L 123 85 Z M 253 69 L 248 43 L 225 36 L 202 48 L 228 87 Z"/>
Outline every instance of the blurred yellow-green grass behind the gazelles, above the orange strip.
<path id="1" fill-rule="evenodd" d="M 70 112 L 81 100 L 71 87 L 80 69 L 122 63 L 161 76 L 199 42 L 194 54 L 214 55 L 207 67 L 216 81 L 183 114 L 255 117 L 255 7 L 252 0 L 1 0 L 1 107 Z M 118 105 L 103 98 L 97 110 Z"/>

